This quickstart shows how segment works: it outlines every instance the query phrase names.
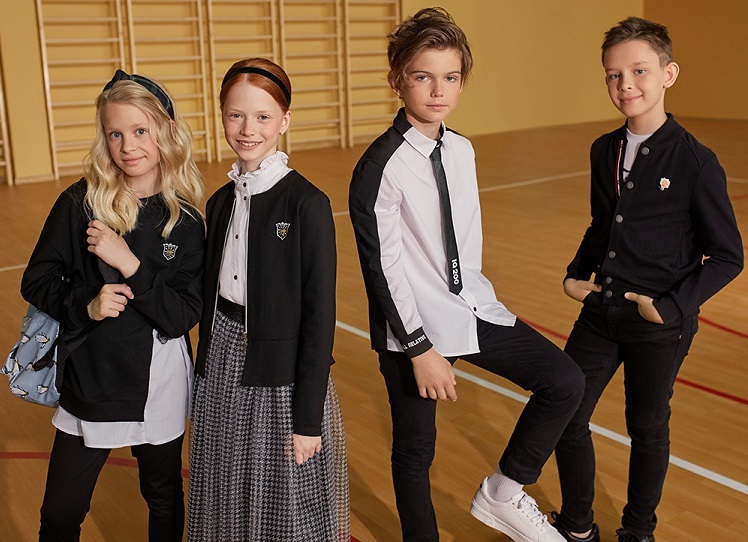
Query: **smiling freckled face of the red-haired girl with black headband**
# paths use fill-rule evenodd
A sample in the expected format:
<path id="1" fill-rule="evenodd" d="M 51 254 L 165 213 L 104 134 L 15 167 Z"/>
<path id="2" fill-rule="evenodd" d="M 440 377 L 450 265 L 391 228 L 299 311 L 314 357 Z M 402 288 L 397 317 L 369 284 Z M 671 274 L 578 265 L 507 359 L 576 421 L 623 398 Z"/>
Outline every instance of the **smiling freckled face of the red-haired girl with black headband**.
<path id="1" fill-rule="evenodd" d="M 236 153 L 241 172 L 254 171 L 278 150 L 278 139 L 291 121 L 265 90 L 250 83 L 234 85 L 222 110 L 223 132 Z"/>

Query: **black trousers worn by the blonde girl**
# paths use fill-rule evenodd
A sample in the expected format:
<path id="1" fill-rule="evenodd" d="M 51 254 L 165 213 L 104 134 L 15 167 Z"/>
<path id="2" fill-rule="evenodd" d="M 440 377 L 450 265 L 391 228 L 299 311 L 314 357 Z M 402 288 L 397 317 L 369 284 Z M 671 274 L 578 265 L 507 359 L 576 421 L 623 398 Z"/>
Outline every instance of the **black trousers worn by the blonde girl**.
<path id="1" fill-rule="evenodd" d="M 132 446 L 138 461 L 140 492 L 148 504 L 148 539 L 180 542 L 184 531 L 182 441 Z M 57 431 L 41 509 L 40 542 L 80 539 L 96 480 L 110 450 L 87 448 L 82 437 Z"/>

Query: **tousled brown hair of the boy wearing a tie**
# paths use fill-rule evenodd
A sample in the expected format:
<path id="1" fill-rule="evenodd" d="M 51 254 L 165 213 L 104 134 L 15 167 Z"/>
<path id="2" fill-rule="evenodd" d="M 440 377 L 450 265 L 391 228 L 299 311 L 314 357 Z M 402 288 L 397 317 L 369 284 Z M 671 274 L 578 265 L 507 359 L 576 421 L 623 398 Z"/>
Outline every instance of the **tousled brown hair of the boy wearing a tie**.
<path id="1" fill-rule="evenodd" d="M 444 8 L 422 9 L 400 23 L 387 39 L 387 59 L 390 63 L 388 78 L 395 88 L 402 88 L 406 77 L 405 70 L 424 49 L 458 51 L 461 57 L 460 73 L 463 84 L 473 69 L 473 55 L 470 53 L 467 37 Z"/>

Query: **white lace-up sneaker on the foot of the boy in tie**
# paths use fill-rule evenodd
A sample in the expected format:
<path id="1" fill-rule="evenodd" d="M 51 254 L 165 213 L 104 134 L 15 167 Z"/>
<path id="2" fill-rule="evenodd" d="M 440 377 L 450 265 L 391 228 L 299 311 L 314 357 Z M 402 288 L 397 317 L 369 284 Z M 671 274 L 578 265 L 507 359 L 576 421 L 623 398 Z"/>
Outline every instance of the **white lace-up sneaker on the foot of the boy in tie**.
<path id="1" fill-rule="evenodd" d="M 527 493 L 520 491 L 501 502 L 489 497 L 485 487 L 486 480 L 483 480 L 470 506 L 470 513 L 477 519 L 508 535 L 514 542 L 566 542 Z"/>

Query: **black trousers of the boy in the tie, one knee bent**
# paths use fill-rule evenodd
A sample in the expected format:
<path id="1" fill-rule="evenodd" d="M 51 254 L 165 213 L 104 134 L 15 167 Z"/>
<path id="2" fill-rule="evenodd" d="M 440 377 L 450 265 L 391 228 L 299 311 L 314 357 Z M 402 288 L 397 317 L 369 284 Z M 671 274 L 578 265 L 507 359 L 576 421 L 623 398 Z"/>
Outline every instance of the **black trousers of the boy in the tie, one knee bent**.
<path id="1" fill-rule="evenodd" d="M 514 327 L 479 320 L 478 342 L 480 353 L 461 358 L 532 392 L 499 461 L 508 477 L 532 484 L 581 401 L 583 375 L 560 348 L 520 320 Z M 418 395 L 405 354 L 378 353 L 392 411 L 392 479 L 403 540 L 438 540 L 429 482 L 437 401 Z"/>

